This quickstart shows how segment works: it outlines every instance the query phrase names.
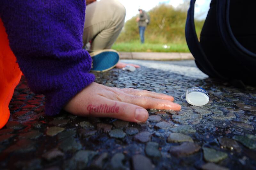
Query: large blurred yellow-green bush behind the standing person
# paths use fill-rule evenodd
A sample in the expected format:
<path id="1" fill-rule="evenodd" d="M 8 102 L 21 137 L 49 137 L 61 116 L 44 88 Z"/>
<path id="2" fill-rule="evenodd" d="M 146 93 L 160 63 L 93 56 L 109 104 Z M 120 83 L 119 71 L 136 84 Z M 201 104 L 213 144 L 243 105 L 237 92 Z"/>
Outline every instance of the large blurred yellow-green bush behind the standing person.
<path id="1" fill-rule="evenodd" d="M 148 43 L 186 43 L 185 25 L 187 11 L 172 5 L 160 4 L 148 11 L 150 24 L 145 31 L 145 41 Z M 138 41 L 139 29 L 136 22 L 137 16 L 126 21 L 116 43 Z M 195 21 L 196 31 L 199 34 L 204 21 Z"/>

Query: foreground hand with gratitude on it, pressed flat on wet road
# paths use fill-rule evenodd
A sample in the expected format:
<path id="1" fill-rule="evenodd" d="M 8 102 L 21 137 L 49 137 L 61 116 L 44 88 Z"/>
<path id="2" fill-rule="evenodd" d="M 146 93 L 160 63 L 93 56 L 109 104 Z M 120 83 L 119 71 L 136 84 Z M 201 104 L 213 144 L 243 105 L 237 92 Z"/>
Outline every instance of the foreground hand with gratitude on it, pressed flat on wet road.
<path id="1" fill-rule="evenodd" d="M 64 107 L 78 116 L 112 117 L 129 122 L 145 122 L 146 109 L 180 110 L 174 98 L 165 94 L 136 89 L 119 89 L 92 83 L 73 97 Z"/>

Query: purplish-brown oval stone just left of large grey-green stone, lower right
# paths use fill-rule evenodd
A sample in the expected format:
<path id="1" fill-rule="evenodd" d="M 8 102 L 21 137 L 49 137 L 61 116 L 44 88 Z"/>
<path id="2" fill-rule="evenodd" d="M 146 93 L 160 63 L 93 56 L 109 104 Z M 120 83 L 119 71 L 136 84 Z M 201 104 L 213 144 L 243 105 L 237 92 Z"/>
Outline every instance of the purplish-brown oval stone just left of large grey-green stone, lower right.
<path id="1" fill-rule="evenodd" d="M 169 152 L 172 153 L 172 155 L 174 156 L 180 157 L 198 152 L 200 148 L 201 147 L 196 143 L 184 142 L 179 146 L 172 146 Z"/>

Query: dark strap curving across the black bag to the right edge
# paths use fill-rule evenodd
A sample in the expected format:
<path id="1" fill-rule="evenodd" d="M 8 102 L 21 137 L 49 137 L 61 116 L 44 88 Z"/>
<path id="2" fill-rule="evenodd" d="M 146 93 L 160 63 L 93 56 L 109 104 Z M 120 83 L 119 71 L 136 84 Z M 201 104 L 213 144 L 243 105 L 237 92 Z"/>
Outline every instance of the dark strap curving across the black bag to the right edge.
<path id="1" fill-rule="evenodd" d="M 241 61 L 250 70 L 256 72 L 256 54 L 244 48 L 234 36 L 230 22 L 229 22 L 229 10 L 230 0 L 217 0 L 217 24 L 219 32 L 225 46 L 229 52 Z"/>

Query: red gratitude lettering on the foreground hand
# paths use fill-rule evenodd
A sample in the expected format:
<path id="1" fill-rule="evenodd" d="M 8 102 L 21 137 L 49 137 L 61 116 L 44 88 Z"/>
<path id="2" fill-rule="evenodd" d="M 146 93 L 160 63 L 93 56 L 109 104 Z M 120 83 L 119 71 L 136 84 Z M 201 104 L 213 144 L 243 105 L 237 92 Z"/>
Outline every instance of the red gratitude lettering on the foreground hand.
<path id="1" fill-rule="evenodd" d="M 114 106 L 109 106 L 107 104 L 103 104 L 103 105 L 89 105 L 87 107 L 87 111 L 89 111 L 89 113 L 118 113 L 119 112 L 119 107 L 116 106 L 116 102 Z"/>

